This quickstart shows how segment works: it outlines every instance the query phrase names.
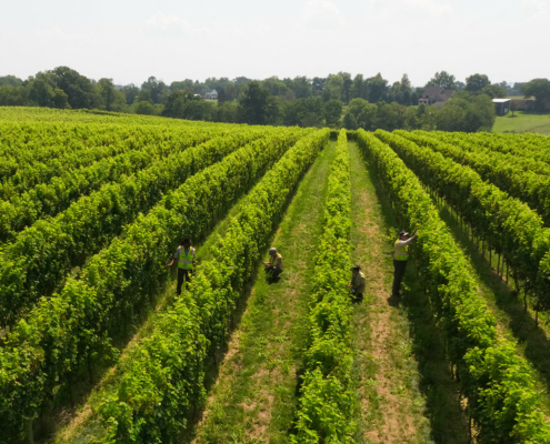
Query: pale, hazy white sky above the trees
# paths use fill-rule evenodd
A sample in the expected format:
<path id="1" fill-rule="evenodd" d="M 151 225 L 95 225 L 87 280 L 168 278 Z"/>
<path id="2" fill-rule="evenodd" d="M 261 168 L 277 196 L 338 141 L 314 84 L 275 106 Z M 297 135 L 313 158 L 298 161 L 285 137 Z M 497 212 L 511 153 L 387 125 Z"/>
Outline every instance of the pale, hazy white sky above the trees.
<path id="1" fill-rule="evenodd" d="M 0 0 L 0 75 L 550 78 L 550 0 Z"/>

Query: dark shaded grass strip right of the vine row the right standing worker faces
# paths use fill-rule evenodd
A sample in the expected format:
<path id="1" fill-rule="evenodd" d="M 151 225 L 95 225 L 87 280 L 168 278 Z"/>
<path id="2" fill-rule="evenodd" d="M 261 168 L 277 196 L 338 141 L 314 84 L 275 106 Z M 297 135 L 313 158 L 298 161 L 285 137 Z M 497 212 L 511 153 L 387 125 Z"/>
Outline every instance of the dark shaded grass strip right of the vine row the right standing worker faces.
<path id="1" fill-rule="evenodd" d="M 526 357 L 540 373 L 550 392 L 550 339 L 544 329 L 534 323 L 530 312 L 524 311 L 523 301 L 516 296 L 516 292 L 497 275 L 489 261 L 477 249 L 477 245 L 460 229 L 447 208 L 440 209 L 441 219 L 450 228 L 458 244 L 470 258 L 470 263 L 477 272 L 481 283 L 494 295 L 486 294 L 489 304 L 496 305 L 502 313 L 494 313 L 501 324 L 509 327 L 513 337 L 520 343 Z M 487 293 L 487 292 L 486 292 Z"/>

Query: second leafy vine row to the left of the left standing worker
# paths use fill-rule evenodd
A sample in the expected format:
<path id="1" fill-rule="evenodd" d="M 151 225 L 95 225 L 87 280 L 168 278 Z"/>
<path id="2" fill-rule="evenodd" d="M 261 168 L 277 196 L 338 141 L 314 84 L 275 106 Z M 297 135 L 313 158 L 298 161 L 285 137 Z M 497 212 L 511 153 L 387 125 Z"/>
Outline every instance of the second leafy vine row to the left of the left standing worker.
<path id="1" fill-rule="evenodd" d="M 264 132 L 263 147 L 270 145 L 273 131 Z M 39 296 L 49 296 L 72 268 L 82 265 L 88 256 L 107 245 L 139 212 L 147 212 L 166 192 L 257 137 L 258 132 L 252 130 L 236 131 L 183 154 L 174 152 L 19 233 L 0 252 L 0 320 L 12 324 L 21 311 L 31 307 Z M 290 138 L 288 143 L 298 138 L 298 132 Z"/>

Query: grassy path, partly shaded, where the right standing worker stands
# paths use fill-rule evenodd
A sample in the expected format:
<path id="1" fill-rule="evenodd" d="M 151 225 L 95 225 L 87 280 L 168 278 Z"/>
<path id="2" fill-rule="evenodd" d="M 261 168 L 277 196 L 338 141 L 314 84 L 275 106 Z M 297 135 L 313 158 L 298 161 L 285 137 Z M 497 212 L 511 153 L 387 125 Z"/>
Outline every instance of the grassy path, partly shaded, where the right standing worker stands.
<path id="1" fill-rule="evenodd" d="M 390 297 L 398 225 L 391 204 L 350 143 L 354 263 L 367 278 L 353 314 L 354 375 L 360 398 L 357 443 L 467 443 L 444 345 L 413 264 L 399 300 Z"/>

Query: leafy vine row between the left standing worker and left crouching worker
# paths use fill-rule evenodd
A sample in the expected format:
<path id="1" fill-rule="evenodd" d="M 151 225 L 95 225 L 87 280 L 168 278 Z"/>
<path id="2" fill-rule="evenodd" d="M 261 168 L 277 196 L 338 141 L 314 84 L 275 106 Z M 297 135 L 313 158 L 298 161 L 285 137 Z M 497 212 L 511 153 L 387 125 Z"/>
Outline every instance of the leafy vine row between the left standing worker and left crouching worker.
<path id="1" fill-rule="evenodd" d="M 117 367 L 102 393 L 107 431 L 97 442 L 170 443 L 187 424 L 189 407 L 204 402 L 204 371 L 224 343 L 236 301 L 258 266 L 286 204 L 329 130 L 301 139 L 242 203 L 212 258 L 199 266 L 190 290 L 159 315 L 152 333 Z M 92 427 L 96 430 L 96 427 Z"/>

